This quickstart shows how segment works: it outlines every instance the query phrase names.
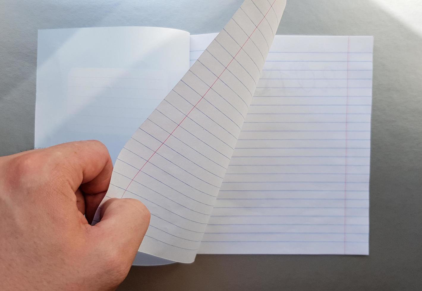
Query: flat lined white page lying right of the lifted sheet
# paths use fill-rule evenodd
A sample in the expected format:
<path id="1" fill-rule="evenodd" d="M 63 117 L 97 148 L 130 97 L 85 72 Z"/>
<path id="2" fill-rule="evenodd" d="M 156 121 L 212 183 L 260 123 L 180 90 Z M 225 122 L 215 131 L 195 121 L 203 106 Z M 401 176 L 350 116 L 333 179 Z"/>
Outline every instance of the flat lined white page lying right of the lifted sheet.
<path id="1" fill-rule="evenodd" d="M 368 254 L 372 47 L 276 36 L 198 253 Z"/>

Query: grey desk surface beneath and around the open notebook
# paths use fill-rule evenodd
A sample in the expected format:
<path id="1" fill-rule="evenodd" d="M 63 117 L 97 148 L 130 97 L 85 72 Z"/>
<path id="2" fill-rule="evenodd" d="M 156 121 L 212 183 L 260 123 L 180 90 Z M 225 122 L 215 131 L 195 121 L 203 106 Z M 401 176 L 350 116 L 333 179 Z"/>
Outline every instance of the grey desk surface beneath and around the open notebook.
<path id="1" fill-rule="evenodd" d="M 0 0 L 0 155 L 33 147 L 37 29 L 219 32 L 241 3 Z M 375 37 L 370 256 L 200 255 L 193 264 L 133 267 L 120 289 L 422 290 L 422 26 L 412 24 L 415 15 L 420 0 L 288 0 L 278 30 Z"/>

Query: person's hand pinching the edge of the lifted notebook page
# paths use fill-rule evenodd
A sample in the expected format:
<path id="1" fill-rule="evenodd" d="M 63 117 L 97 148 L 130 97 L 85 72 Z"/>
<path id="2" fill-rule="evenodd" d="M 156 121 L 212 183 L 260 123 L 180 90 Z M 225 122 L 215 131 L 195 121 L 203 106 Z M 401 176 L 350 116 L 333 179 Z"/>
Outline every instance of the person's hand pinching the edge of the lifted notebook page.
<path id="1" fill-rule="evenodd" d="M 149 225 L 136 199 L 109 199 L 113 164 L 95 140 L 0 157 L 0 290 L 110 290 Z M 85 216 L 84 216 L 85 215 Z"/>

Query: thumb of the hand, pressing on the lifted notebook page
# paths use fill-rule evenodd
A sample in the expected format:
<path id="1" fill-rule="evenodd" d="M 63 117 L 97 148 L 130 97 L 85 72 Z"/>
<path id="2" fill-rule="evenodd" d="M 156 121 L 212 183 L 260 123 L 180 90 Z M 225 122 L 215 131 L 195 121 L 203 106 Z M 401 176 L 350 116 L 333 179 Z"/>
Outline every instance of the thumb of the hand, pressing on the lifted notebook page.
<path id="1" fill-rule="evenodd" d="M 108 255 L 130 268 L 149 226 L 149 210 L 137 199 L 111 198 L 102 205 L 100 217 L 101 221 L 92 226 L 97 239 Z"/>

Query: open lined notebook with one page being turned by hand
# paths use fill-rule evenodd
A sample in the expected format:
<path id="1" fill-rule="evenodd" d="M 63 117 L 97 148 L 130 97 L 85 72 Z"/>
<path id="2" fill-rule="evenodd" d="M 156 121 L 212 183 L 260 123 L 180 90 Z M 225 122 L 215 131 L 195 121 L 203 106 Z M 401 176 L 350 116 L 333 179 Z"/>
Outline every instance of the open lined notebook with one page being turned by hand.
<path id="1" fill-rule="evenodd" d="M 35 147 L 103 141 L 153 256 L 368 254 L 373 38 L 275 36 L 284 5 L 220 34 L 40 30 Z"/>

